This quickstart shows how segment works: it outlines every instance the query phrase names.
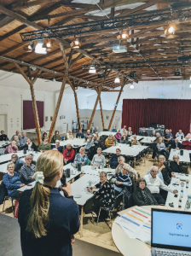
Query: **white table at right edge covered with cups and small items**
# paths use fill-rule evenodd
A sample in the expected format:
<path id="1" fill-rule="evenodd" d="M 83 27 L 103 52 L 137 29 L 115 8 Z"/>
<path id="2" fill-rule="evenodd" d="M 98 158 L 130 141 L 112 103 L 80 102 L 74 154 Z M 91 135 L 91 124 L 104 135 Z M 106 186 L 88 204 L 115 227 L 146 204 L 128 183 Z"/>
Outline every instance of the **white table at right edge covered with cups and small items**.
<path id="1" fill-rule="evenodd" d="M 178 201 L 180 199 L 180 193 L 181 190 L 183 189 L 183 197 L 182 197 L 182 208 L 178 208 L 181 211 L 184 211 L 184 207 L 186 205 L 187 199 L 188 199 L 188 194 L 191 194 L 191 175 L 186 176 L 185 174 L 178 174 L 175 173 L 176 177 L 171 177 L 171 184 L 169 185 L 171 187 L 171 189 L 177 189 L 178 190 L 178 196 L 175 197 L 174 193 L 169 192 L 165 201 L 165 206 L 169 207 L 169 203 L 174 204 L 175 208 L 178 208 Z M 180 178 L 182 179 L 188 179 L 189 183 L 188 183 L 188 189 L 186 189 L 186 183 L 184 183 L 184 187 L 181 187 L 181 184 L 178 186 L 173 186 L 172 183 L 176 183 L 177 181 L 180 180 Z"/>

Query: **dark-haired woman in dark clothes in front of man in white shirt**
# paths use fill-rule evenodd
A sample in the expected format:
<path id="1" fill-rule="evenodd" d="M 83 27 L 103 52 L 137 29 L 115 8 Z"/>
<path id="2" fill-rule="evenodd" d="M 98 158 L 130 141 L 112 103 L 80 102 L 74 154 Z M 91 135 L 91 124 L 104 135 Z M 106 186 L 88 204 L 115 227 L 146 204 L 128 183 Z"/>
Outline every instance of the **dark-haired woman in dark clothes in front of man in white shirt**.
<path id="1" fill-rule="evenodd" d="M 136 181 L 136 189 L 133 193 L 133 200 L 138 207 L 142 206 L 157 206 L 158 202 L 151 194 L 151 191 L 146 187 L 147 183 L 143 177 L 139 177 Z"/>

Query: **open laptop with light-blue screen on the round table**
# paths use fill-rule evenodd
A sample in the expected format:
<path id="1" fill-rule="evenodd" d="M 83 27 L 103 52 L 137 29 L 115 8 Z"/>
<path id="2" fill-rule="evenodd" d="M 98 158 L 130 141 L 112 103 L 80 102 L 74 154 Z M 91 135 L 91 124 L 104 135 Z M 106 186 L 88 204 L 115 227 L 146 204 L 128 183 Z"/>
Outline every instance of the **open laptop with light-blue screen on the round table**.
<path id="1" fill-rule="evenodd" d="M 152 256 L 191 256 L 191 212 L 152 209 Z"/>

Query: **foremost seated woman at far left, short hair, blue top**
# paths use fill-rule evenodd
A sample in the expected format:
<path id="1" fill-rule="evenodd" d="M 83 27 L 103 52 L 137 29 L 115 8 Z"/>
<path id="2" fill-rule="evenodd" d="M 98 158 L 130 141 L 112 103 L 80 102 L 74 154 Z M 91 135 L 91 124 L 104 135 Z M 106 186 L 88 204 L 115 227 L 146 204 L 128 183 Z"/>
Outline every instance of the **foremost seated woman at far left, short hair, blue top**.
<path id="1" fill-rule="evenodd" d="M 14 199 L 18 199 L 17 189 L 22 188 L 26 184 L 20 182 L 20 175 L 14 172 L 14 163 L 9 163 L 7 166 L 8 173 L 3 176 L 3 183 L 8 190 L 8 195 Z"/>

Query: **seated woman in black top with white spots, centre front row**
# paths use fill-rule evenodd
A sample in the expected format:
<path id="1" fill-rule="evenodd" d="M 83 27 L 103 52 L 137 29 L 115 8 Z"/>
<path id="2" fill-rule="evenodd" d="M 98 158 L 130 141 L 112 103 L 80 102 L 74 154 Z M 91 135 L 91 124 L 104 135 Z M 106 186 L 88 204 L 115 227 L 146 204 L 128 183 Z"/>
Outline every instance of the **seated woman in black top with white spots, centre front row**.
<path id="1" fill-rule="evenodd" d="M 99 191 L 94 192 L 94 189 L 99 189 Z M 95 193 L 98 196 L 92 207 L 92 211 L 96 212 L 97 216 L 100 212 L 100 207 L 113 207 L 113 183 L 109 183 L 107 181 L 107 172 L 100 172 L 100 183 L 97 183 L 96 186 L 87 188 L 87 190 L 92 194 Z M 107 212 L 101 211 L 99 221 L 104 221 L 104 218 L 107 218 Z"/>

